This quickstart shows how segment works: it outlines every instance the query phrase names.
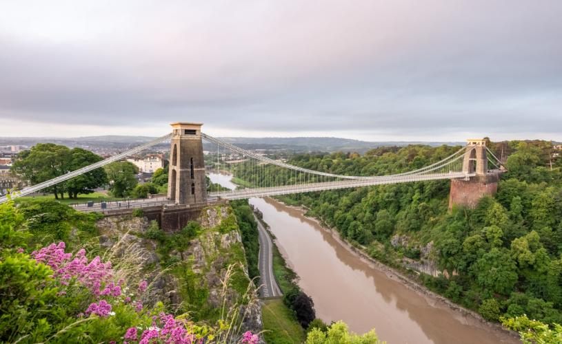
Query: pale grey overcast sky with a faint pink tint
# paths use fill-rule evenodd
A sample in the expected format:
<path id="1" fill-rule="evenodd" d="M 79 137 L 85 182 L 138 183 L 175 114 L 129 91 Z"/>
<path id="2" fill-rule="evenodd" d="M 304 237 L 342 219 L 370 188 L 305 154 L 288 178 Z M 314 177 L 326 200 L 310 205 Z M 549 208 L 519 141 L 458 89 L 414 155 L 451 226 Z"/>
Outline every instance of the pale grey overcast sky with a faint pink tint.
<path id="1" fill-rule="evenodd" d="M 562 140 L 562 1 L 1 1 L 0 136 Z"/>

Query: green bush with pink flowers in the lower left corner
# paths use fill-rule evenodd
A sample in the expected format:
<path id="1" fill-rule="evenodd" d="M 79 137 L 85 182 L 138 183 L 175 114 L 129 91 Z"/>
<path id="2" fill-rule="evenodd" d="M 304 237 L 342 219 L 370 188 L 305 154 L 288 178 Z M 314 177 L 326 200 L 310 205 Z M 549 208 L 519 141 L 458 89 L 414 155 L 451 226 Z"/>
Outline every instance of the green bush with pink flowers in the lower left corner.
<path id="1" fill-rule="evenodd" d="M 16 208 L 0 205 L 0 342 L 214 343 L 236 336 L 224 323 L 215 329 L 166 314 L 162 303 L 145 307 L 147 281 L 128 281 L 138 283 L 128 288 L 110 261 L 90 260 L 83 249 L 72 255 L 63 241 L 26 254 L 23 228 Z M 239 342 L 258 339 L 246 332 Z"/>

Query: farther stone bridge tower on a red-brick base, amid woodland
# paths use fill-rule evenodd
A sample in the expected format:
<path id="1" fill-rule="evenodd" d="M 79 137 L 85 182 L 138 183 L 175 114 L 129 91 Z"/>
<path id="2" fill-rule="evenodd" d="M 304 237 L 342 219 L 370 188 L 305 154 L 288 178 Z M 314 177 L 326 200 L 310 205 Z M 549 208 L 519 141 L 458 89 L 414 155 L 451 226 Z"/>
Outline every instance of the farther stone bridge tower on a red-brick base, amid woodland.
<path id="1" fill-rule="evenodd" d="M 488 171 L 486 140 L 467 140 L 463 158 L 463 172 L 471 175 L 465 179 L 452 179 L 449 194 L 449 209 L 453 206 L 475 208 L 486 195 L 495 195 L 498 190 L 499 173 Z"/>

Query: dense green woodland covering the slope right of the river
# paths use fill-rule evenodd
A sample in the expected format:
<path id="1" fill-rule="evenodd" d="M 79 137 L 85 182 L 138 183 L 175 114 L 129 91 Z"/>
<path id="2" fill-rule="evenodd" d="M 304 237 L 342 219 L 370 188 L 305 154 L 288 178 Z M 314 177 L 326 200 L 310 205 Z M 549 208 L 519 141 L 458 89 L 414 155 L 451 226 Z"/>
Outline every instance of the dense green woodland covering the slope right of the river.
<path id="1" fill-rule="evenodd" d="M 283 200 L 306 206 L 310 215 L 387 264 L 403 267 L 405 261 L 425 258 L 444 273 L 422 274 L 421 282 L 486 319 L 527 314 L 562 323 L 561 160 L 553 160 L 550 142 L 490 145 L 498 156 L 502 150 L 509 153 L 508 172 L 497 195 L 483 198 L 475 209 L 448 211 L 449 181 L 303 193 Z M 290 163 L 345 175 L 384 175 L 418 169 L 459 148 L 381 147 L 364 155 L 297 155 Z M 259 184 L 256 178 L 248 179 Z"/>

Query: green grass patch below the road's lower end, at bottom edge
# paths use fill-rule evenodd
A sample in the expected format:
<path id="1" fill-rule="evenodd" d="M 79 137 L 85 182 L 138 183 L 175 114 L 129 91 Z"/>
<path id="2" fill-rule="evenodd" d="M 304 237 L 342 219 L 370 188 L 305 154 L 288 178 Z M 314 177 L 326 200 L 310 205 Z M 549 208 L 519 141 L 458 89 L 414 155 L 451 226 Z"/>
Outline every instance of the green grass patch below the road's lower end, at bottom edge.
<path id="1" fill-rule="evenodd" d="M 268 299 L 261 308 L 263 338 L 268 344 L 303 343 L 305 333 L 283 299 Z"/>

